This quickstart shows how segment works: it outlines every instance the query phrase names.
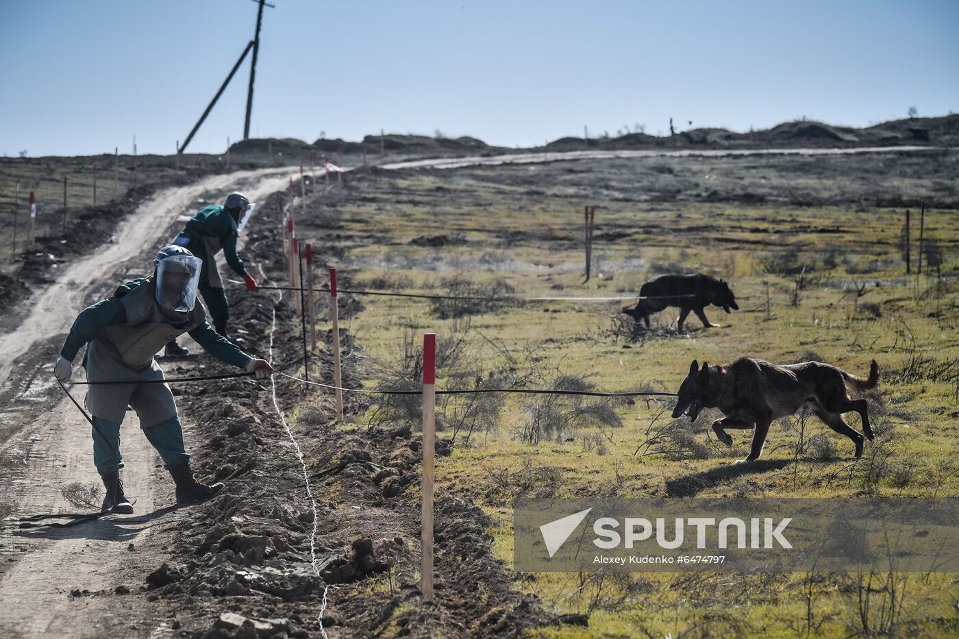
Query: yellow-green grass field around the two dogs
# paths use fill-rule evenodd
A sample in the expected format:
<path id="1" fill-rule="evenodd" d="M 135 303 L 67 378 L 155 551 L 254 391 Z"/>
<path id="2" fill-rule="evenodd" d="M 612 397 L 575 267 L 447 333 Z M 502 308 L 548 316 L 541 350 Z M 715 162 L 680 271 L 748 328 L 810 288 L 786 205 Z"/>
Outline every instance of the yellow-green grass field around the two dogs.
<path id="1" fill-rule="evenodd" d="M 440 343 L 439 388 L 676 390 L 690 360 L 810 359 L 882 383 L 867 397 L 877 439 L 852 443 L 814 417 L 774 424 L 762 460 L 644 400 L 470 395 L 441 401 L 437 494 L 483 507 L 512 560 L 522 496 L 946 497 L 959 489 L 959 213 L 956 159 L 667 158 L 356 175 L 299 218 L 336 246 L 340 286 L 439 295 L 624 296 L 664 272 L 731 283 L 740 310 L 676 310 L 636 331 L 627 301 L 443 302 L 344 296 L 346 358 L 368 388 L 415 385 L 424 332 Z M 925 199 L 924 268 L 904 270 L 905 207 Z M 941 205 L 945 201 L 947 205 Z M 583 282 L 582 207 L 596 205 L 593 277 Z M 311 231 L 311 225 L 314 230 Z M 320 231 L 319 228 L 322 227 Z M 362 306 L 357 306 L 359 299 Z M 321 303 L 320 308 L 324 308 Z M 325 321 L 325 319 L 324 319 Z M 324 324 L 325 325 L 325 324 Z M 352 398 L 348 398 L 352 401 Z M 344 429 L 409 422 L 416 407 L 354 405 Z M 854 427 L 858 417 L 849 415 Z M 546 636 L 877 636 L 957 631 L 954 575 L 516 575 L 589 627 Z M 481 593 L 479 593 L 481 596 Z"/>

